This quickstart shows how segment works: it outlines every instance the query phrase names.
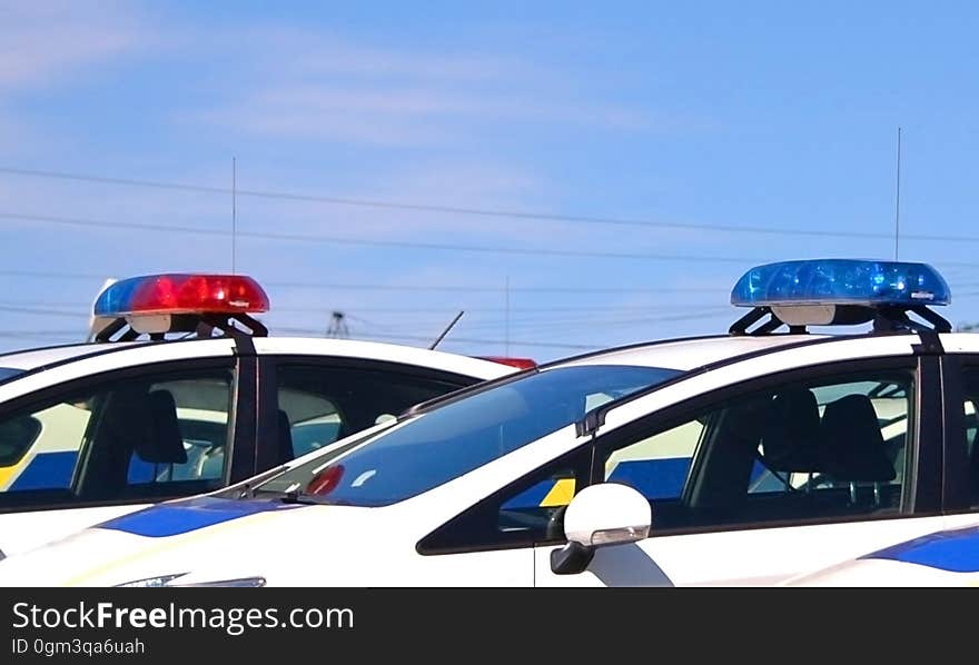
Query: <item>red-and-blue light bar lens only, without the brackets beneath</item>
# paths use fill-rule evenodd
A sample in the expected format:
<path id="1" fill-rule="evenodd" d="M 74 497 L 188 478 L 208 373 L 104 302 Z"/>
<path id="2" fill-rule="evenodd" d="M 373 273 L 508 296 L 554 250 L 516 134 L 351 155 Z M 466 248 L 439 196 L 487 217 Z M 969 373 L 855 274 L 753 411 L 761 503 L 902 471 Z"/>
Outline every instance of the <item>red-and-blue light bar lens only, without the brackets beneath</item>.
<path id="1" fill-rule="evenodd" d="M 245 275 L 167 274 L 131 277 L 99 294 L 97 317 L 160 314 L 257 314 L 268 296 Z"/>

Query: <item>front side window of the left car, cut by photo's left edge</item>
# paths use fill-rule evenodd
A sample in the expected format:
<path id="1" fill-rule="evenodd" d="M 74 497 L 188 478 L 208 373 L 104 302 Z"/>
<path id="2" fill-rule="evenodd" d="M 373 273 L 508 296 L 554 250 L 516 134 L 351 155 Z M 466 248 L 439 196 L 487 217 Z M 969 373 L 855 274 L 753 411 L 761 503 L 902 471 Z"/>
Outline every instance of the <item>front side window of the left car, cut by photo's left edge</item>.
<path id="1" fill-rule="evenodd" d="M 231 379 L 230 369 L 107 379 L 6 414 L 0 417 L 0 505 L 219 487 Z"/>

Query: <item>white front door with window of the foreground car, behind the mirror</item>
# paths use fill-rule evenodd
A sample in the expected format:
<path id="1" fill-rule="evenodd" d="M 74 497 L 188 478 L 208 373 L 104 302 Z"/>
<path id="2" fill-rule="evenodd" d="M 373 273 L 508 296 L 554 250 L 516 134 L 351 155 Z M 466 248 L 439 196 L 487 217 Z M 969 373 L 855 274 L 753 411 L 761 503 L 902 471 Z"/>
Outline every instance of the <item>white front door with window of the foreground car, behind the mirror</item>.
<path id="1" fill-rule="evenodd" d="M 537 585 L 771 584 L 941 528 L 936 356 L 714 380 L 621 426 L 609 411 L 592 482 L 640 490 L 650 537 L 596 549 L 576 575 L 538 545 Z"/>

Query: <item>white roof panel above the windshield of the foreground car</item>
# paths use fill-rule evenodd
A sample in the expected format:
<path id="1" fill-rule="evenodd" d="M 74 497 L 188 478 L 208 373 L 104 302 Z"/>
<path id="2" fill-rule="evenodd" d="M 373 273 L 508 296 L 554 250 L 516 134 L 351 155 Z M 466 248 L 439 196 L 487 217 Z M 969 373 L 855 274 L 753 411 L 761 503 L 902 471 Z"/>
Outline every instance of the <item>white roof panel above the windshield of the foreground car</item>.
<path id="1" fill-rule="evenodd" d="M 688 371 L 704 365 L 730 360 L 739 356 L 775 350 L 793 344 L 823 339 L 846 339 L 847 337 L 831 335 L 768 335 L 758 337 L 719 335 L 714 337 L 671 339 L 580 356 L 554 364 L 552 367 L 639 365 Z"/>

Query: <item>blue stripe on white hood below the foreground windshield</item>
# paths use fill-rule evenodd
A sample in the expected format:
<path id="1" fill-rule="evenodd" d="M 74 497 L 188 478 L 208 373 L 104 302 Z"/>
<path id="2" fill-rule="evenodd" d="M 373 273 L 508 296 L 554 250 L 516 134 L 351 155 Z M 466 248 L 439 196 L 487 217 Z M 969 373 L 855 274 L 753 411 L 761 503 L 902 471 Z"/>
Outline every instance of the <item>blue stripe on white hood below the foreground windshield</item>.
<path id="1" fill-rule="evenodd" d="M 301 506 L 283 504 L 275 499 L 222 499 L 204 496 L 176 504 L 150 506 L 149 508 L 97 524 L 96 527 L 126 532 L 137 536 L 161 538 L 186 534 L 199 528 L 238 519 L 239 517 L 299 507 Z"/>

